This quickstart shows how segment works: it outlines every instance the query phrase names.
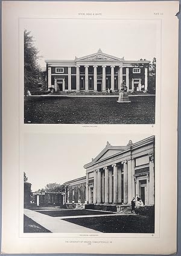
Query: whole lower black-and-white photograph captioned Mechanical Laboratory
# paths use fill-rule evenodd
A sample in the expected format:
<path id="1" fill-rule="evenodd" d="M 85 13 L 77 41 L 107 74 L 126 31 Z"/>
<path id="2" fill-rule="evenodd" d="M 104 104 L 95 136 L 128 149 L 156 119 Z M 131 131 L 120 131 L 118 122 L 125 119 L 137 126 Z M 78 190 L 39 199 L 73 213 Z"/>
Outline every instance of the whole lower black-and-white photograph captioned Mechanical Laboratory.
<path id="1" fill-rule="evenodd" d="M 24 233 L 154 234 L 154 139 L 26 133 Z"/>

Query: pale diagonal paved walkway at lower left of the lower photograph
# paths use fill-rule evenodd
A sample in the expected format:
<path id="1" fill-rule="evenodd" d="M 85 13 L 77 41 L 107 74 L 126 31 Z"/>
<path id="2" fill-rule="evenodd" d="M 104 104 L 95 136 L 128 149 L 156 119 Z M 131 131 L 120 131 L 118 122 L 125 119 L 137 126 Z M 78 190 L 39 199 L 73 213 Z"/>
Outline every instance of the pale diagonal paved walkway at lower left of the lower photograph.
<path id="1" fill-rule="evenodd" d="M 29 209 L 24 209 L 24 214 L 52 233 L 100 233 L 94 229 L 79 226 L 77 224 L 61 220 L 60 218 L 40 214 L 39 212 L 31 211 Z"/>

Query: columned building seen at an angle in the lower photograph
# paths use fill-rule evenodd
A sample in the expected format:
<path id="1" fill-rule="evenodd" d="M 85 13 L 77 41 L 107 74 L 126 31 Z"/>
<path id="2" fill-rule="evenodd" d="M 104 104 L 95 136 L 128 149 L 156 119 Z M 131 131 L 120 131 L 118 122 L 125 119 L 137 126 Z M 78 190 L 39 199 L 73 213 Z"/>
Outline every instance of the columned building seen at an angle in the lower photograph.
<path id="1" fill-rule="evenodd" d="M 154 136 L 126 146 L 107 142 L 84 168 L 86 177 L 64 183 L 64 204 L 127 205 L 135 195 L 154 204 Z"/>

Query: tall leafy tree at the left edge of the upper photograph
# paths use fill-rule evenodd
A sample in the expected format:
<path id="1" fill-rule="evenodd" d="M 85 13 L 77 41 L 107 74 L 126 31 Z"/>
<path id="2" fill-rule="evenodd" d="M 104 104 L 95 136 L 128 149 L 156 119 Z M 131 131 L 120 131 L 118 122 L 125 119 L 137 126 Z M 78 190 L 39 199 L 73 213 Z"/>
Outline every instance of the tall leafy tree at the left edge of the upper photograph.
<path id="1" fill-rule="evenodd" d="M 27 90 L 34 91 L 38 87 L 41 75 L 40 66 L 38 64 L 38 53 L 34 45 L 34 38 L 31 32 L 24 30 L 24 86 L 25 93 Z"/>

